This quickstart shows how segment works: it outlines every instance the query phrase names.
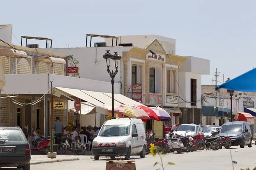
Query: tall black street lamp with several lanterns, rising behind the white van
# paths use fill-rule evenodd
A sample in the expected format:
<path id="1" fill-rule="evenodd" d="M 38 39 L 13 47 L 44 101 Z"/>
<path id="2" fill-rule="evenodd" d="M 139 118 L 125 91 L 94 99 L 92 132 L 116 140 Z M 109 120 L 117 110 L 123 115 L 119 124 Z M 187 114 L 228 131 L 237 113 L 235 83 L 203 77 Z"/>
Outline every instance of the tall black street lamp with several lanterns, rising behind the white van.
<path id="1" fill-rule="evenodd" d="M 116 74 L 118 73 L 118 61 L 121 59 L 121 56 L 119 56 L 117 54 L 117 52 L 114 52 L 115 54 L 112 55 L 110 52 L 110 50 L 106 50 L 105 55 L 103 55 L 103 58 L 106 59 L 106 63 L 107 63 L 107 72 L 110 75 L 111 78 L 111 85 L 112 85 L 112 115 L 111 117 L 114 118 L 114 78 L 116 77 Z M 112 72 L 110 71 L 109 67 L 110 67 L 110 59 L 112 59 L 113 61 L 115 61 L 115 67 L 116 67 L 116 71 L 114 72 L 112 70 Z"/>

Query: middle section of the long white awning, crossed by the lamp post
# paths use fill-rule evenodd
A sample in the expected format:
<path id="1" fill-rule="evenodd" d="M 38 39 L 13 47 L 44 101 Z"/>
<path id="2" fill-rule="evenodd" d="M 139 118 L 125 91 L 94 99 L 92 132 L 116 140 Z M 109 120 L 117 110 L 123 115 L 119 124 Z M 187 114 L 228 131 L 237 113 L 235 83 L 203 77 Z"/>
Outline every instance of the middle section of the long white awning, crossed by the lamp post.
<path id="1" fill-rule="evenodd" d="M 92 96 L 93 98 L 96 98 L 97 100 L 101 101 L 102 103 L 111 106 L 112 104 L 112 98 L 109 97 L 108 95 L 105 95 L 102 92 L 92 92 L 92 91 L 87 91 L 87 90 L 81 90 L 82 92 L 86 93 L 87 95 Z M 118 101 L 114 100 L 114 106 L 120 106 L 122 105 Z"/>

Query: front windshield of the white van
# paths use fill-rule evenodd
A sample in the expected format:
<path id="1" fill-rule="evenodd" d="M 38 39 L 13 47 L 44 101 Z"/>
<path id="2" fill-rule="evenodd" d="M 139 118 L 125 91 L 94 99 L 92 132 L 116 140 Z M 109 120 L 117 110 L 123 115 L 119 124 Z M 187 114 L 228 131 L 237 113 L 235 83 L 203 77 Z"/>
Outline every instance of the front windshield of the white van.
<path id="1" fill-rule="evenodd" d="M 99 136 L 127 136 L 130 133 L 130 125 L 104 125 Z"/>

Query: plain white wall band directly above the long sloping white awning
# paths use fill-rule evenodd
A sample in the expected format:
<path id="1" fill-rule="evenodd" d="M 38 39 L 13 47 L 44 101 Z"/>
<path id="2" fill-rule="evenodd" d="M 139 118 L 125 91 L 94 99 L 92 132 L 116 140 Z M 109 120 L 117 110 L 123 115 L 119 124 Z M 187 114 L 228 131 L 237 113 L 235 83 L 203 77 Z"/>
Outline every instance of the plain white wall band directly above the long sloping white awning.
<path id="1" fill-rule="evenodd" d="M 72 89 L 83 89 L 95 92 L 111 93 L 111 83 L 95 81 L 84 78 L 74 78 L 63 75 L 49 74 L 12 74 L 5 75 L 6 86 L 2 94 L 44 94 L 51 86 L 65 87 Z M 49 81 L 48 81 L 49 78 Z M 48 84 L 49 82 L 49 84 Z M 120 93 L 119 84 L 114 84 L 114 92 Z"/>

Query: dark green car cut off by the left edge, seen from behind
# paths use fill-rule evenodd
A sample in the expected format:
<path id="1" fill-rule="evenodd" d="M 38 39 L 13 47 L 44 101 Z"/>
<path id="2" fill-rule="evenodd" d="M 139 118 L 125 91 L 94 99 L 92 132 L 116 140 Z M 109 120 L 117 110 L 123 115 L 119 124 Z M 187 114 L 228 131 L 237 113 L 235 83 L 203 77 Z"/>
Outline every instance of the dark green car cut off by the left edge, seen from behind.
<path id="1" fill-rule="evenodd" d="M 30 170 L 30 147 L 19 127 L 0 127 L 0 167 Z"/>

